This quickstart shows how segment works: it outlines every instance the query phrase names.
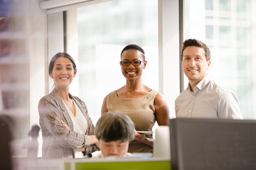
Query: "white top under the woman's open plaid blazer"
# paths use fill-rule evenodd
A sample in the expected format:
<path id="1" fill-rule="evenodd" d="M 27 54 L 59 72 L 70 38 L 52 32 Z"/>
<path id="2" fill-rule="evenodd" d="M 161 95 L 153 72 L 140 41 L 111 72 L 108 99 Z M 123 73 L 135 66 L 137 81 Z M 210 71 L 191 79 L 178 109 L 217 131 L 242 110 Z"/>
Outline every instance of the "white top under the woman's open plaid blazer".
<path id="1" fill-rule="evenodd" d="M 68 106 L 65 104 L 64 101 L 63 101 L 63 103 L 64 103 L 65 107 L 67 108 L 68 114 L 70 115 L 70 118 L 72 120 L 73 131 L 78 132 L 80 134 L 85 134 L 85 132 L 88 128 L 88 124 L 87 124 L 85 117 L 82 115 L 82 112 L 78 108 L 78 105 L 74 102 L 74 104 L 75 104 L 75 116 L 74 116 L 73 113 L 70 111 L 70 108 L 68 108 Z M 77 151 L 75 149 L 74 149 L 74 154 L 75 154 L 75 158 L 85 157 L 82 154 L 82 152 Z"/>

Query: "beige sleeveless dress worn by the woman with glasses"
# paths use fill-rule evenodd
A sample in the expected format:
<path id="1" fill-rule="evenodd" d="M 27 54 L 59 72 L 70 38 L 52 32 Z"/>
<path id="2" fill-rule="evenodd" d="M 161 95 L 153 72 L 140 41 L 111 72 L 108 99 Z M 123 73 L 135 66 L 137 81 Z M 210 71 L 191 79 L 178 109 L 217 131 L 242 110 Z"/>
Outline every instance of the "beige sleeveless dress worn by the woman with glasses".
<path id="1" fill-rule="evenodd" d="M 112 91 L 107 96 L 108 112 L 122 112 L 132 119 L 135 129 L 138 131 L 151 131 L 156 122 L 154 114 L 154 98 L 158 91 L 151 90 L 141 98 L 119 98 L 117 91 Z M 146 135 L 152 138 L 152 135 Z M 128 152 L 153 152 L 153 148 L 141 142 L 132 141 Z"/>

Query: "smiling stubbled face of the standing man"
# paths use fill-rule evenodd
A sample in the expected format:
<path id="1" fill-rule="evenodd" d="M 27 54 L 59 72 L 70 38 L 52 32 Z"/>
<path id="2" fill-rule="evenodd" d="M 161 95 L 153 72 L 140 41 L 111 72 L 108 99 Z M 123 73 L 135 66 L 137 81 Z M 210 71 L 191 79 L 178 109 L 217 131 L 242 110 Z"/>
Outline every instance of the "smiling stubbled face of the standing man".
<path id="1" fill-rule="evenodd" d="M 183 51 L 181 68 L 190 84 L 196 85 L 206 77 L 209 66 L 210 61 L 206 61 L 206 53 L 202 47 L 189 46 Z"/>

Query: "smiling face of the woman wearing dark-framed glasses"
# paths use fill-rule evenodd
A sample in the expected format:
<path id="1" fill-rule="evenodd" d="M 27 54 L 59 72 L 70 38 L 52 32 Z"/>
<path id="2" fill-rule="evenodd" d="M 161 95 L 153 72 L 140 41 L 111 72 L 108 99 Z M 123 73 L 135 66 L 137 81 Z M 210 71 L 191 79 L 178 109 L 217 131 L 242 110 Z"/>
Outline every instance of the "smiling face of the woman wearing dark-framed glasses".
<path id="1" fill-rule="evenodd" d="M 142 71 L 146 67 L 146 61 L 143 61 L 142 52 L 139 50 L 125 50 L 121 56 L 121 69 L 122 74 L 126 79 L 134 80 L 142 77 Z M 123 66 L 122 62 L 129 62 L 128 66 Z M 141 64 L 134 66 L 133 63 L 141 62 Z"/>

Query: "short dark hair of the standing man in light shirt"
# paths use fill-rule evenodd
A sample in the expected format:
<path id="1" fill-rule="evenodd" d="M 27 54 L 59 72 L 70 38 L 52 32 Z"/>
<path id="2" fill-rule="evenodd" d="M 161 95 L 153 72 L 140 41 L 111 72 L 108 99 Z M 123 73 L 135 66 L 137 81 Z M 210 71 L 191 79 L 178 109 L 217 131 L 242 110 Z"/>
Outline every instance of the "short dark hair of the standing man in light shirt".
<path id="1" fill-rule="evenodd" d="M 186 47 L 189 47 L 189 46 L 196 46 L 196 47 L 203 48 L 203 50 L 206 53 L 206 61 L 210 61 L 209 47 L 205 43 L 201 42 L 200 40 L 196 40 L 196 39 L 188 39 L 183 42 L 183 45 L 181 47 L 181 61 L 183 60 L 183 51 L 186 49 Z"/>

